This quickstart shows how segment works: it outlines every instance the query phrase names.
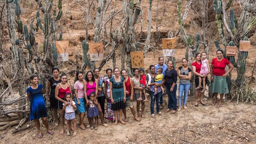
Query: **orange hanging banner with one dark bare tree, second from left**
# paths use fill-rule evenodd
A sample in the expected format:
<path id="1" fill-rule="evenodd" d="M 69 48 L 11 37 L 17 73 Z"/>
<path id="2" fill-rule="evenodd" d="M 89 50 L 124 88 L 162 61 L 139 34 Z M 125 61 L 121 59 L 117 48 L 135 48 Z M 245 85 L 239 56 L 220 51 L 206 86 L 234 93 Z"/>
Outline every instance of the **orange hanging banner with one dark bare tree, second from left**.
<path id="1" fill-rule="evenodd" d="M 90 61 L 100 61 L 104 59 L 103 43 L 89 42 Z"/>

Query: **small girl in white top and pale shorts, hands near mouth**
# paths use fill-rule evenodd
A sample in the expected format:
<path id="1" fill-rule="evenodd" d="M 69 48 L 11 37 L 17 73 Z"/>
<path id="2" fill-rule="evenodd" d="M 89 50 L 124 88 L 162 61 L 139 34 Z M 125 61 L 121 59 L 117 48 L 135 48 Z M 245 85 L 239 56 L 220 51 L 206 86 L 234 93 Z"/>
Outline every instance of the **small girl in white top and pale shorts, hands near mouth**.
<path id="1" fill-rule="evenodd" d="M 71 92 L 67 91 L 65 95 L 66 101 L 63 103 L 63 110 L 65 110 L 65 119 L 67 120 L 67 136 L 70 136 L 69 133 L 69 127 L 70 127 L 70 121 L 73 124 L 74 127 L 74 133 L 73 136 L 76 136 L 76 113 L 74 108 L 76 109 L 76 103 L 72 101 Z M 72 126 L 71 126 L 72 127 Z"/>

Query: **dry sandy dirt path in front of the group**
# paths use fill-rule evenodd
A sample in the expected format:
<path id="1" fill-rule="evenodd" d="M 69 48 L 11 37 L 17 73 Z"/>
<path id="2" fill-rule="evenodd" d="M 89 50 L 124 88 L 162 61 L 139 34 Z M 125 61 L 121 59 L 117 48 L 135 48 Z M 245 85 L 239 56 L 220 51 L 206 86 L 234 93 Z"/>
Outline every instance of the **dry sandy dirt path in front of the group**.
<path id="1" fill-rule="evenodd" d="M 167 97 L 165 98 L 167 100 Z M 96 130 L 78 129 L 76 137 L 59 135 L 60 127 L 53 136 L 46 134 L 37 138 L 35 127 L 11 134 L 13 128 L 0 132 L 0 143 L 255 143 L 256 107 L 224 101 L 223 107 L 212 106 L 213 99 L 207 99 L 207 106 L 193 106 L 189 96 L 188 109 L 175 114 L 166 113 L 150 117 L 150 103 L 145 105 L 145 118 L 137 122 L 127 110 L 126 125 L 108 122 L 108 127 Z M 135 106 L 136 103 L 134 103 Z M 217 104 L 218 105 L 218 104 Z M 166 109 L 166 107 L 165 107 Z M 76 117 L 78 118 L 78 116 Z M 78 121 L 78 119 L 76 120 Z M 87 123 L 87 120 L 85 120 Z M 50 124 L 52 127 L 52 124 Z M 69 142 L 70 141 L 70 142 Z"/>

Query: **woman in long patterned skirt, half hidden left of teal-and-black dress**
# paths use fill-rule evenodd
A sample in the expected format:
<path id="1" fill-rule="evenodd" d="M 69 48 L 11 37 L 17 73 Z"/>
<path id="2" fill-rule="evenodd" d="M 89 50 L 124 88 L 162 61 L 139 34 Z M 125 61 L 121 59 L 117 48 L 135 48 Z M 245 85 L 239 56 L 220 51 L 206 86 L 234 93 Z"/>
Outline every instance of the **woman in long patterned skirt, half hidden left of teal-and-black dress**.
<path id="1" fill-rule="evenodd" d="M 104 78 L 105 95 L 107 99 L 106 116 L 107 116 L 107 119 L 109 119 L 111 122 L 113 122 L 113 120 L 115 119 L 114 111 L 111 110 L 110 87 L 109 87 L 110 79 L 113 77 L 112 73 L 113 73 L 112 69 L 107 68 L 106 69 L 107 76 L 105 76 Z"/>

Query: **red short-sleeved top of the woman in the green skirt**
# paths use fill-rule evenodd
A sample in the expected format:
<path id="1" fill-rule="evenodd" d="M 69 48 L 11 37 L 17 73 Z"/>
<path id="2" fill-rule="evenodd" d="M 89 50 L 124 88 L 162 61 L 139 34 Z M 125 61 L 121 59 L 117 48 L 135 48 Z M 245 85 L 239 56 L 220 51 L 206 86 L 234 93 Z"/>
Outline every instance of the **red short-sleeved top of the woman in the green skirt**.
<path id="1" fill-rule="evenodd" d="M 212 74 L 215 76 L 222 76 L 226 73 L 225 67 L 226 65 L 229 65 L 230 61 L 228 61 L 226 58 L 223 58 L 221 61 L 217 60 L 217 57 L 212 59 L 212 65 L 213 70 Z"/>

